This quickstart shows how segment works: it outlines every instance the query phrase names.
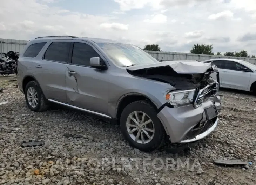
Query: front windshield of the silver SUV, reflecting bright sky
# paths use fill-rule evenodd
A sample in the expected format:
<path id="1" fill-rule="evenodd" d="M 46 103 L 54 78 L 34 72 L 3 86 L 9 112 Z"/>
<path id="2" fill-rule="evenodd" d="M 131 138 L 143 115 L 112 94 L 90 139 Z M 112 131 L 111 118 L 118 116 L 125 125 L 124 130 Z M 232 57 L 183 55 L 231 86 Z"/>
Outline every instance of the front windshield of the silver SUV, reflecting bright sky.
<path id="1" fill-rule="evenodd" d="M 159 62 L 137 46 L 119 43 L 97 43 L 116 65 L 131 66 Z"/>

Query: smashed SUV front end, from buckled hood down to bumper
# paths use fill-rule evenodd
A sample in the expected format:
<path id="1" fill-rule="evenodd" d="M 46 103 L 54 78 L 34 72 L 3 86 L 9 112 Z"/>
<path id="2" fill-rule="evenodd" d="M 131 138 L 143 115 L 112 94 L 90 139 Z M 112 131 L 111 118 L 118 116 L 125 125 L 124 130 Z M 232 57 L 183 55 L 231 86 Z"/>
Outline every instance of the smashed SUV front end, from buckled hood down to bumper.
<path id="1" fill-rule="evenodd" d="M 218 68 L 198 61 L 168 61 L 127 67 L 134 75 L 168 83 L 166 103 L 158 110 L 167 135 L 173 143 L 200 140 L 215 130 L 221 110 L 219 83 L 210 75 Z M 217 78 L 218 79 L 218 78 Z"/>

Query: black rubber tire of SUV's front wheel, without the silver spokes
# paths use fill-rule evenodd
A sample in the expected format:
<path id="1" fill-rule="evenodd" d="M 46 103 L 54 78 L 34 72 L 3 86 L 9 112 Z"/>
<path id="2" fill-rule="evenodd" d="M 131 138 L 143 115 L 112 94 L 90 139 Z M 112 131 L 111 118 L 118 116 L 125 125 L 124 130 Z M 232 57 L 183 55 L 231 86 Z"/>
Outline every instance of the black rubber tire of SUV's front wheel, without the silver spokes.
<path id="1" fill-rule="evenodd" d="M 140 125 L 139 125 L 140 128 L 139 127 L 136 128 L 136 127 L 134 127 L 135 122 L 133 122 L 132 119 L 129 118 L 129 115 L 133 114 L 135 111 L 137 112 L 137 115 L 139 115 L 138 116 L 139 118 L 141 118 L 143 113 L 145 113 L 146 114 L 145 120 L 146 120 L 146 117 L 150 118 L 152 120 L 151 123 L 144 125 L 144 127 L 146 127 L 144 129 L 154 130 L 154 135 L 149 135 L 149 134 L 153 134 L 153 133 L 148 132 L 148 130 L 147 130 L 147 134 L 149 136 L 153 136 L 153 137 L 151 137 L 152 138 L 151 140 L 147 137 L 145 130 L 143 132 L 143 128 L 141 128 L 141 125 L 143 125 L 143 123 L 140 123 Z M 134 124 L 133 127 L 127 127 L 126 123 L 128 121 L 129 121 L 129 123 Z M 145 121 L 145 122 L 147 122 L 147 121 Z M 131 125 L 131 124 L 129 124 L 129 125 Z M 150 125 L 151 125 L 151 127 L 149 128 Z M 141 151 L 144 151 L 144 152 L 153 151 L 153 150 L 161 147 L 163 145 L 164 139 L 166 137 L 166 132 L 163 128 L 163 125 L 160 122 L 160 120 L 157 118 L 156 110 L 152 106 L 151 102 L 146 101 L 146 100 L 139 100 L 139 101 L 132 102 L 123 109 L 123 112 L 121 113 L 121 118 L 120 118 L 120 127 L 121 127 L 121 131 L 124 135 L 124 138 L 129 142 L 129 145 L 134 148 L 137 148 Z M 134 129 L 136 130 L 132 133 L 134 135 L 130 136 L 130 134 L 128 132 L 129 131 L 132 132 L 132 130 L 134 130 Z M 138 141 L 135 141 L 136 136 L 138 134 L 137 129 L 139 129 L 139 131 L 141 131 L 143 134 L 144 144 L 142 143 L 141 133 L 139 134 L 140 139 Z M 148 139 L 147 142 L 146 142 L 146 139 Z"/>

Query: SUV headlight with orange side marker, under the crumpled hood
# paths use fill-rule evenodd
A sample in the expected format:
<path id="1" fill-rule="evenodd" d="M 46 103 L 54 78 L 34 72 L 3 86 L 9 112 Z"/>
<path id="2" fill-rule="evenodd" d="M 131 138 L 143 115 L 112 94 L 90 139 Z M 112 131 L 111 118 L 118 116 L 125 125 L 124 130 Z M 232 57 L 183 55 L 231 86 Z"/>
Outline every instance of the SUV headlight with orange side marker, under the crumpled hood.
<path id="1" fill-rule="evenodd" d="M 195 89 L 192 90 L 177 90 L 166 94 L 166 100 L 174 107 L 189 105 L 193 102 Z"/>

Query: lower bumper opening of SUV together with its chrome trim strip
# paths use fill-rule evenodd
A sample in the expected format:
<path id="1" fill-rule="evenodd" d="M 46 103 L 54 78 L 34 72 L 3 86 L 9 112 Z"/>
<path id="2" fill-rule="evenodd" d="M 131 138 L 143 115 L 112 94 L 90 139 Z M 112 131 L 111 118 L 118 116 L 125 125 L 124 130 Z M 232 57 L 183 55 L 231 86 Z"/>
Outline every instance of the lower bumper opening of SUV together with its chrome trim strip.
<path id="1" fill-rule="evenodd" d="M 218 125 L 218 117 L 208 120 L 204 123 L 198 123 L 188 132 L 184 140 L 180 143 L 189 143 L 201 140 L 215 130 Z"/>

